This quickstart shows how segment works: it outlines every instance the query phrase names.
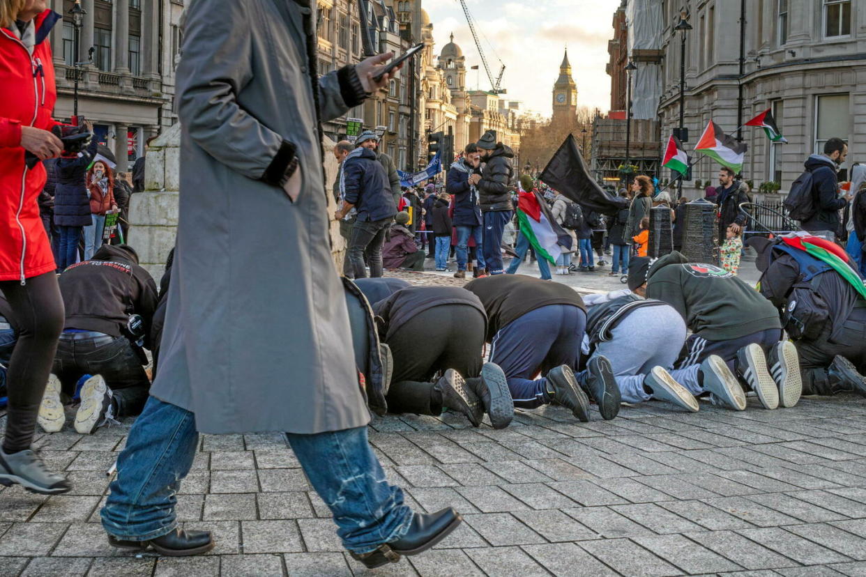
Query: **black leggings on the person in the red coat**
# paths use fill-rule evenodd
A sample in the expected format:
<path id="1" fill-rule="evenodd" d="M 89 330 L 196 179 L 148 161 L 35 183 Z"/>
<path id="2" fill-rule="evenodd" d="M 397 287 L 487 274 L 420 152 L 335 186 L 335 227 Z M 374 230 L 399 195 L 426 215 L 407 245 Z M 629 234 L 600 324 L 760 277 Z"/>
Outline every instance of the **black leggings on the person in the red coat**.
<path id="1" fill-rule="evenodd" d="M 9 362 L 6 384 L 9 413 L 4 452 L 29 449 L 36 432 L 36 415 L 63 330 L 63 298 L 54 272 L 27 279 L 0 281 L 0 291 L 15 314 L 18 342 Z"/>

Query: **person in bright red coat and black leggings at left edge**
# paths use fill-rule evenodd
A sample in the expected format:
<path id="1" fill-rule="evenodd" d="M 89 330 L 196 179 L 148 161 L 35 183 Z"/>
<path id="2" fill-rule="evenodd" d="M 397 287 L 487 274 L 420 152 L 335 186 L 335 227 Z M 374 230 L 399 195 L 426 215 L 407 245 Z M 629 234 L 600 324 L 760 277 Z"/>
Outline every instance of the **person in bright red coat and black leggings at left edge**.
<path id="1" fill-rule="evenodd" d="M 0 0 L 0 291 L 19 329 L 7 373 L 0 484 L 48 495 L 72 487 L 30 448 L 63 329 L 55 258 L 39 216 L 37 198 L 46 180 L 39 161 L 58 157 L 64 138 L 87 140 L 80 127 L 51 118 L 57 93 L 48 35 L 59 20 L 45 0 Z"/>

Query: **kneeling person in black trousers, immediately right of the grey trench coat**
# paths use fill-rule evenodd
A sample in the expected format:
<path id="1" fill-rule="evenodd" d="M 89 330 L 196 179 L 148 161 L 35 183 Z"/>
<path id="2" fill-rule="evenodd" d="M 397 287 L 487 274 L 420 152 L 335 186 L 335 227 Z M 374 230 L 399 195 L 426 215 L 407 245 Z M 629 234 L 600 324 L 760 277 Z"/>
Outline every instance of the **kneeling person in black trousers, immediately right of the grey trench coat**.
<path id="1" fill-rule="evenodd" d="M 481 425 L 484 413 L 495 429 L 508 426 L 514 403 L 502 369 L 481 358 L 487 315 L 478 297 L 456 286 L 413 286 L 373 311 L 394 359 L 385 397 L 391 413 L 438 416 L 448 407 L 472 426 Z"/>

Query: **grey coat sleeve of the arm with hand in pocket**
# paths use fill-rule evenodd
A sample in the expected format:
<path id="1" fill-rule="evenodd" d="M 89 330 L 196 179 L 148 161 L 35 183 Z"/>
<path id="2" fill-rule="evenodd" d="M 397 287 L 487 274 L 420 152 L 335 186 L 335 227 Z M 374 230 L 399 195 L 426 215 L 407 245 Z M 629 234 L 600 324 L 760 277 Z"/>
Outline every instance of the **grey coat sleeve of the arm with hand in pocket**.
<path id="1" fill-rule="evenodd" d="M 178 115 L 192 140 L 219 163 L 276 185 L 294 159 L 294 144 L 237 103 L 253 80 L 249 13 L 236 0 L 191 3 L 178 66 Z"/>

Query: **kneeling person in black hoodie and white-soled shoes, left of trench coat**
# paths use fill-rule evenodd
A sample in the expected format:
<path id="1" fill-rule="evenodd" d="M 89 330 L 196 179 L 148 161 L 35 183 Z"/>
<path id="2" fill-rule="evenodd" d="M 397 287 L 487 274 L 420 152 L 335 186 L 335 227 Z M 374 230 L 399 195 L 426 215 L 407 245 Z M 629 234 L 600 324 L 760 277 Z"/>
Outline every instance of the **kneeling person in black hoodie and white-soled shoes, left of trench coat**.
<path id="1" fill-rule="evenodd" d="M 86 374 L 93 376 L 81 388 L 76 431 L 94 433 L 109 420 L 139 414 L 150 390 L 142 348 L 152 347 L 157 286 L 138 254 L 126 245 L 103 245 L 92 260 L 67 267 L 60 290 L 66 323 L 52 369 L 60 388 L 49 382 L 45 397 L 52 402 L 43 401 L 39 424 L 48 433 L 61 429 L 61 390 L 72 396 Z"/>

